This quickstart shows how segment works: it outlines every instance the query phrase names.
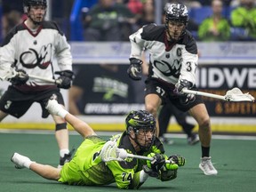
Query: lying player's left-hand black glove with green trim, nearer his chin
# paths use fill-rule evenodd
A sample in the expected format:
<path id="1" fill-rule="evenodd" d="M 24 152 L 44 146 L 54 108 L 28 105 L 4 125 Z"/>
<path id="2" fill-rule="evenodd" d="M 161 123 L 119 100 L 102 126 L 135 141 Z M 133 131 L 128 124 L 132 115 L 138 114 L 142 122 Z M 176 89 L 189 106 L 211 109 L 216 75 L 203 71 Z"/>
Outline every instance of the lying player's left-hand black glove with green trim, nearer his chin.
<path id="1" fill-rule="evenodd" d="M 150 177 L 158 177 L 159 170 L 165 164 L 165 158 L 163 154 L 150 153 L 148 157 L 153 157 L 153 160 L 147 160 L 147 164 L 143 165 L 144 172 L 147 172 Z"/>

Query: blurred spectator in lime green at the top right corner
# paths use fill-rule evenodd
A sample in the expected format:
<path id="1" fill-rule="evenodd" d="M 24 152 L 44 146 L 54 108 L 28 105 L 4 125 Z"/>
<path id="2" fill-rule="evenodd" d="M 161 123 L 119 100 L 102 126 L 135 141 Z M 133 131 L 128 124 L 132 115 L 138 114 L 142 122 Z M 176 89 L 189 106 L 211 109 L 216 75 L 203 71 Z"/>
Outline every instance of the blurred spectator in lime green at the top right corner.
<path id="1" fill-rule="evenodd" d="M 238 40 L 256 40 L 256 6 L 254 0 L 240 0 L 240 5 L 231 12 L 231 23 L 235 28 L 244 28 L 245 37 Z"/>

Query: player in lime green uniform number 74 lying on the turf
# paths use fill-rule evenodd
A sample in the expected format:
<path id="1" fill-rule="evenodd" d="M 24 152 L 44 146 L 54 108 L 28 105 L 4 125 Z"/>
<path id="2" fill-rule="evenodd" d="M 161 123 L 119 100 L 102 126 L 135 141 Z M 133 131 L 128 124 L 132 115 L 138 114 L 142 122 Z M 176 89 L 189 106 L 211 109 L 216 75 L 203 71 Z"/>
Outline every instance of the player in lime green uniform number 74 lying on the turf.
<path id="1" fill-rule="evenodd" d="M 52 115 L 65 118 L 84 137 L 84 141 L 73 159 L 64 164 L 61 170 L 14 153 L 11 160 L 18 169 L 26 167 L 45 179 L 70 185 L 97 186 L 116 182 L 117 188 L 140 188 L 148 176 L 162 181 L 175 179 L 179 166 L 185 164 L 182 156 L 164 155 L 163 144 L 155 136 L 155 118 L 147 111 L 131 111 L 125 119 L 126 131 L 106 141 L 97 136 L 89 124 L 61 108 L 57 100 L 49 100 L 46 108 Z M 108 142 L 115 142 L 118 148 L 124 148 L 129 154 L 149 156 L 152 160 L 127 157 L 124 161 L 102 161 L 103 153 L 106 153 L 102 148 Z M 111 157 L 113 154 L 108 155 Z M 166 163 L 168 160 L 169 163 Z"/>

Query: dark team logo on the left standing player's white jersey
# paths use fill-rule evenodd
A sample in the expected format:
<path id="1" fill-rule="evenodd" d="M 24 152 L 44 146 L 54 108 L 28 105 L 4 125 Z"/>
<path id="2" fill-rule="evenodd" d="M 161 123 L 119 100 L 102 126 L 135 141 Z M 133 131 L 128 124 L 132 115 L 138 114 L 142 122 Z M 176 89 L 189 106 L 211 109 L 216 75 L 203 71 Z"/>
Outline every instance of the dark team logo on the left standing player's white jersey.
<path id="1" fill-rule="evenodd" d="M 52 44 L 43 45 L 39 52 L 33 48 L 22 52 L 20 54 L 20 63 L 24 68 L 48 68 L 52 63 Z"/>

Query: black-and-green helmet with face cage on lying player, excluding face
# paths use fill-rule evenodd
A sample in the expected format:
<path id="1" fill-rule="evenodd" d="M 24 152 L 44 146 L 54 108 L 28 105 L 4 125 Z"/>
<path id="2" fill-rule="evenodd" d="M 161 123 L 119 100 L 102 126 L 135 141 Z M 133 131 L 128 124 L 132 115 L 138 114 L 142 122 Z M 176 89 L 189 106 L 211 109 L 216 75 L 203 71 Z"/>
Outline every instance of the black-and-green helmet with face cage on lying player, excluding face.
<path id="1" fill-rule="evenodd" d="M 126 132 L 128 134 L 133 131 L 135 133 L 134 141 L 140 146 L 141 150 L 148 150 L 156 139 L 155 132 L 156 132 L 156 119 L 155 117 L 148 113 L 146 110 L 138 110 L 138 111 L 131 111 L 125 119 L 126 124 Z M 150 146 L 142 146 L 137 139 L 137 135 L 140 130 L 153 132 L 152 140 Z"/>

